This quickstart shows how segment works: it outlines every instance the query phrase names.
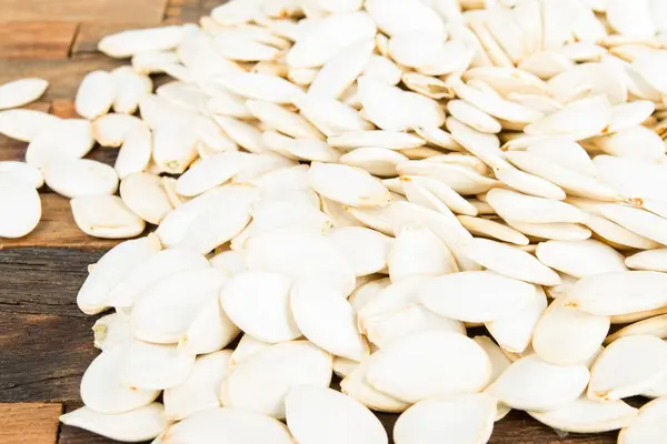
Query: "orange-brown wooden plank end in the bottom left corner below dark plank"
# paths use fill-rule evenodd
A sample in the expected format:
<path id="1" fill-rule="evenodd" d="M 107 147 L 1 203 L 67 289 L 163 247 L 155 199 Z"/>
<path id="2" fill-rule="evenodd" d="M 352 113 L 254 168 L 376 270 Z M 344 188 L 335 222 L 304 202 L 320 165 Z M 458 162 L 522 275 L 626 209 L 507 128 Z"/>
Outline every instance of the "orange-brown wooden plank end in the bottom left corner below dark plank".
<path id="1" fill-rule="evenodd" d="M 0 404 L 0 443 L 56 443 L 61 413 L 60 404 Z"/>

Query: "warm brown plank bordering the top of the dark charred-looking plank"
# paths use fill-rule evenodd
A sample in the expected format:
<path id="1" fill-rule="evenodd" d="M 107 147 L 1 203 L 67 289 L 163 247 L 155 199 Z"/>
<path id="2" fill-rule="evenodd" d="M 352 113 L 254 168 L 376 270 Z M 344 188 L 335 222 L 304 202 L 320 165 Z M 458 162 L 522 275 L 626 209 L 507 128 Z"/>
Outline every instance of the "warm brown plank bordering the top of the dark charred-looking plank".
<path id="1" fill-rule="evenodd" d="M 24 238 L 0 239 L 0 249 L 24 246 L 61 246 L 67 249 L 108 249 L 117 240 L 91 238 L 83 233 L 72 216 L 69 199 L 58 194 L 40 194 L 42 219 L 37 229 Z"/>

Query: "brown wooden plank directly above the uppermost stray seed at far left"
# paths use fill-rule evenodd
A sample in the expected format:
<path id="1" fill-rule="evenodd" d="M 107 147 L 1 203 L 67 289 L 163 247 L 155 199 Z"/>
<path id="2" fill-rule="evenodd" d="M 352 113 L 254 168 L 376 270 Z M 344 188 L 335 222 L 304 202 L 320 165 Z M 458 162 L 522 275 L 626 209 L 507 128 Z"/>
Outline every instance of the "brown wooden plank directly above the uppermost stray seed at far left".
<path id="1" fill-rule="evenodd" d="M 42 101 L 72 100 L 88 72 L 112 70 L 122 64 L 127 64 L 127 60 L 116 60 L 100 53 L 68 60 L 0 60 L 0 84 L 24 77 L 40 77 L 50 83 Z"/>

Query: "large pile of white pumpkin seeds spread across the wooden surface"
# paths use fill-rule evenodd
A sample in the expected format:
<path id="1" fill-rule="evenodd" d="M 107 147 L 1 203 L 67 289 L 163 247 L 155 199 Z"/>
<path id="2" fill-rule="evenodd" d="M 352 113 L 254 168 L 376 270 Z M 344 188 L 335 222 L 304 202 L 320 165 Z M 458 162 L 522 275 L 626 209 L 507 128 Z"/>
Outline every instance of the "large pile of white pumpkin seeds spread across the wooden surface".
<path id="1" fill-rule="evenodd" d="M 157 225 L 89 269 L 79 307 L 113 312 L 64 424 L 387 443 L 375 411 L 397 444 L 472 444 L 516 408 L 664 441 L 667 2 L 232 0 L 99 49 L 131 64 L 86 75 L 81 119 L 0 87 L 29 142 L 1 236 L 44 182 L 92 236 Z"/>

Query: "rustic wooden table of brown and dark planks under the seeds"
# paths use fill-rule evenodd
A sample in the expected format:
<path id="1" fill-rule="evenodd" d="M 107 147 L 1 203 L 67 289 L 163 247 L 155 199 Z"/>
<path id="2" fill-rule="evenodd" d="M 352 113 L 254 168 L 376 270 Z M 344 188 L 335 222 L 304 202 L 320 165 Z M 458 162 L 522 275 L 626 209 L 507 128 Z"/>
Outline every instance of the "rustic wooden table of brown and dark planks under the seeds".
<path id="1" fill-rule="evenodd" d="M 219 2 L 0 0 L 0 83 L 29 75 L 46 78 L 51 85 L 31 107 L 73 117 L 72 98 L 84 73 L 121 64 L 96 52 L 101 36 L 197 21 Z M 24 150 L 26 143 L 0 135 L 0 160 L 22 160 Z M 112 163 L 116 153 L 98 148 L 90 158 Z M 79 312 L 76 294 L 86 266 L 115 242 L 81 233 L 64 198 L 44 191 L 42 206 L 42 221 L 33 233 L 0 240 L 0 443 L 111 443 L 60 426 L 58 416 L 81 405 L 81 375 L 98 353 L 90 330 L 94 319 Z M 390 430 L 395 417 L 381 418 Z M 491 442 L 614 443 L 615 436 L 561 436 L 515 412 L 496 425 Z"/>

